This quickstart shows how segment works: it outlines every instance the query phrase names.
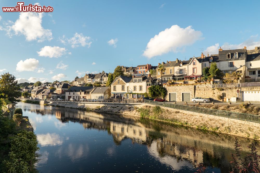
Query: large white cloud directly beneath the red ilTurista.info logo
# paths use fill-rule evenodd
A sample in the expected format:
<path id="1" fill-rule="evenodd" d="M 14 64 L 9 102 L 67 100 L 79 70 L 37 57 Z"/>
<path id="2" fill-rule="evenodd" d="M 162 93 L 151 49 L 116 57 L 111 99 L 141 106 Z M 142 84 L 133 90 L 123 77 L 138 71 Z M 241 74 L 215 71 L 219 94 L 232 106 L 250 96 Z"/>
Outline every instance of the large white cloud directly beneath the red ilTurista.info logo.
<path id="1" fill-rule="evenodd" d="M 44 40 L 53 39 L 51 30 L 43 29 L 42 27 L 43 13 L 26 12 L 20 13 L 19 18 L 15 23 L 9 21 L 6 26 L 7 34 L 12 35 L 23 34 L 27 41 L 37 40 L 42 42 Z"/>

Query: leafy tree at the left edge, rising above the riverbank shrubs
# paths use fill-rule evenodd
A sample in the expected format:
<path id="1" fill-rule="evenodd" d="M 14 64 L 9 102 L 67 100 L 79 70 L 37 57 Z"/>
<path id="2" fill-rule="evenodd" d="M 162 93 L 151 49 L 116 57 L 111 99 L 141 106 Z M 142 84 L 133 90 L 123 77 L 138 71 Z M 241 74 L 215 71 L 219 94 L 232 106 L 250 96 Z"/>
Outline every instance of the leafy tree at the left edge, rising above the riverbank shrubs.
<path id="1" fill-rule="evenodd" d="M 20 88 L 14 75 L 4 73 L 0 76 L 0 99 L 8 99 L 10 102 L 15 103 L 21 96 Z"/>

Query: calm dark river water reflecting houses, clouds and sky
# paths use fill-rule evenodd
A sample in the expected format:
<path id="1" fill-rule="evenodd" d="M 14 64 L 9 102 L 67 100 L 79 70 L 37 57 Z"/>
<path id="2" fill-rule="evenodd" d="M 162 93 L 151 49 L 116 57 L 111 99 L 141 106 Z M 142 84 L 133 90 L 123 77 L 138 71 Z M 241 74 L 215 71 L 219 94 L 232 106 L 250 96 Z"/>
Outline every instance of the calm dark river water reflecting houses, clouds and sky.
<path id="1" fill-rule="evenodd" d="M 129 116 L 18 103 L 37 135 L 40 172 L 229 172 L 235 137 Z M 250 140 L 238 138 L 243 154 Z"/>

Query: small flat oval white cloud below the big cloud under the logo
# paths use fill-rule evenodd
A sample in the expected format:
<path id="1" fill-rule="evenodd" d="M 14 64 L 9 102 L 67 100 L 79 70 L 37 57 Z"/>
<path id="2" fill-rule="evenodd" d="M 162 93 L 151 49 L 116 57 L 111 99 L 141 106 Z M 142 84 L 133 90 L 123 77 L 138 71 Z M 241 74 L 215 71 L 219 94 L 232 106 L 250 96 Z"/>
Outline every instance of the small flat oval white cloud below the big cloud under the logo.
<path id="1" fill-rule="evenodd" d="M 66 54 L 66 49 L 59 46 L 44 46 L 40 52 L 37 52 L 41 57 L 58 58 Z"/>

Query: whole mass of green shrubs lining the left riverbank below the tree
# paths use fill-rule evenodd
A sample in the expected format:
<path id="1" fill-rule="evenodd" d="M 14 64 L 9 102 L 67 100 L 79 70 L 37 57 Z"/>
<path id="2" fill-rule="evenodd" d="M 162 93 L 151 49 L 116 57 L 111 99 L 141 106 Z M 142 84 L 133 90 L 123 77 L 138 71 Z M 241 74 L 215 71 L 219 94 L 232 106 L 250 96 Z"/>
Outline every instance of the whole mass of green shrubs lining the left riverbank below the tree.
<path id="1" fill-rule="evenodd" d="M 2 107 L 4 102 L 0 100 Z M 38 172 L 37 137 L 33 132 L 20 130 L 22 117 L 20 108 L 15 110 L 13 119 L 0 112 L 0 172 Z"/>

